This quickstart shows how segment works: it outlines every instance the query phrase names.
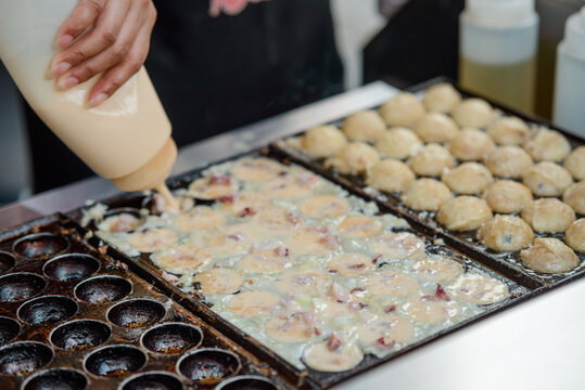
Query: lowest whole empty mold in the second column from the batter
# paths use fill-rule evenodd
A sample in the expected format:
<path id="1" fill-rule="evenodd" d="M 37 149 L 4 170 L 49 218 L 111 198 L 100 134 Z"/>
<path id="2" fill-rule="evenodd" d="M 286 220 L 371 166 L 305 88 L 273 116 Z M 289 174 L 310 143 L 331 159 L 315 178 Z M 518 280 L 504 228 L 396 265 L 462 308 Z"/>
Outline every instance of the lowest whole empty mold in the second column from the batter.
<path id="1" fill-rule="evenodd" d="M 120 377 L 136 373 L 147 364 L 147 354 L 132 346 L 106 346 L 84 360 L 84 368 L 99 377 Z"/>

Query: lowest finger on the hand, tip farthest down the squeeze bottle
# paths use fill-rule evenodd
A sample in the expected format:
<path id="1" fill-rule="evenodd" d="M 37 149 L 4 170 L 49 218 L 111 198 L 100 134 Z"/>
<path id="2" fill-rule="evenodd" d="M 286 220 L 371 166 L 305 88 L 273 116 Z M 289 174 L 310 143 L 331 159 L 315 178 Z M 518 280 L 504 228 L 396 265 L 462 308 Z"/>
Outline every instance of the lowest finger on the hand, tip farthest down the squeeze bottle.
<path id="1" fill-rule="evenodd" d="M 96 107 L 112 96 L 130 77 L 132 77 L 147 60 L 150 47 L 150 35 L 154 18 L 140 29 L 128 55 L 118 65 L 106 70 L 93 86 L 89 94 L 89 106 Z"/>

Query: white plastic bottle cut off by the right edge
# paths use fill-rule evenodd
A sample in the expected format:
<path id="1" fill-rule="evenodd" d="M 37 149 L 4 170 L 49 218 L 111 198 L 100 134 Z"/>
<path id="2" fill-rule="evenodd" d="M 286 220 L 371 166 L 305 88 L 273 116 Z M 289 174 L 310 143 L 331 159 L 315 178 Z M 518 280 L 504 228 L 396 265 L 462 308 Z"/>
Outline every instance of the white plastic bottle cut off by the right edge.
<path id="1" fill-rule="evenodd" d="M 557 49 L 552 120 L 585 138 L 585 5 L 567 20 Z"/>

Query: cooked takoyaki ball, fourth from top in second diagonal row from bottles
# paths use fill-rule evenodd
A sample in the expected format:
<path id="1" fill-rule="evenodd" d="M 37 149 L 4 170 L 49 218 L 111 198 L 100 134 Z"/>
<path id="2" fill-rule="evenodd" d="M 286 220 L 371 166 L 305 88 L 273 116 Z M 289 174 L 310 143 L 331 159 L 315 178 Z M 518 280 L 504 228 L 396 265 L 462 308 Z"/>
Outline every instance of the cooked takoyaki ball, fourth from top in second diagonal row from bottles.
<path id="1" fill-rule="evenodd" d="M 487 169 L 499 178 L 519 179 L 532 167 L 530 155 L 518 146 L 499 146 L 489 151 L 483 160 Z"/>

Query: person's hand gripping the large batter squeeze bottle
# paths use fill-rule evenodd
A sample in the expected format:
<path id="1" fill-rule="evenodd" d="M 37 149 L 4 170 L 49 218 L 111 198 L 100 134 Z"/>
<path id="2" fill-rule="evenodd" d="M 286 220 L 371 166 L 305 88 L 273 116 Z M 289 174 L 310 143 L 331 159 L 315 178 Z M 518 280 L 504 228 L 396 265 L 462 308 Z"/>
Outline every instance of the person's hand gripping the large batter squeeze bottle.
<path id="1" fill-rule="evenodd" d="M 56 34 L 62 50 L 51 70 L 58 88 L 69 89 L 103 72 L 88 95 L 89 106 L 103 103 L 147 60 L 155 20 L 151 0 L 79 1 Z"/>

